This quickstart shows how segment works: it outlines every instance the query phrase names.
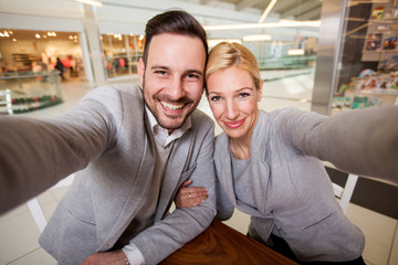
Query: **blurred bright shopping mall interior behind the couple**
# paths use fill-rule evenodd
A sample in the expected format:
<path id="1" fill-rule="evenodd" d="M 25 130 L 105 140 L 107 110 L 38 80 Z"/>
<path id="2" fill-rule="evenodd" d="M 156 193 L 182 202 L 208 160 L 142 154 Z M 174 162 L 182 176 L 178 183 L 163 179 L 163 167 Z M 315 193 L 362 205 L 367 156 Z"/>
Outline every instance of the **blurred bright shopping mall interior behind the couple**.
<path id="1" fill-rule="evenodd" d="M 176 8 L 205 26 L 209 49 L 228 41 L 253 52 L 261 109 L 398 105 L 398 0 L 0 0 L 1 115 L 52 118 L 98 86 L 138 84 L 145 24 Z M 212 117 L 205 96 L 198 108 Z M 325 167 L 334 183 L 349 182 Z M 0 215 L 0 265 L 56 264 L 38 239 L 72 181 Z M 359 176 L 352 188 L 345 214 L 365 234 L 366 264 L 397 265 L 398 187 Z M 235 210 L 224 223 L 245 234 L 249 222 Z"/>

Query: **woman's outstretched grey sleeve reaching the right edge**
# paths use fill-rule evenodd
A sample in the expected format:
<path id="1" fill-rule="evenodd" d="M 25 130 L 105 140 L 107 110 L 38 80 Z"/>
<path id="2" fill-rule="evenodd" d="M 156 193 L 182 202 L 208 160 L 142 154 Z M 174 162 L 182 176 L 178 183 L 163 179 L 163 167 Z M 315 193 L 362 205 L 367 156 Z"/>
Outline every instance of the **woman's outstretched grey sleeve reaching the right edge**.
<path id="1" fill-rule="evenodd" d="M 398 183 L 398 107 L 350 110 L 325 117 L 292 114 L 287 131 L 304 155 L 337 168 Z"/>

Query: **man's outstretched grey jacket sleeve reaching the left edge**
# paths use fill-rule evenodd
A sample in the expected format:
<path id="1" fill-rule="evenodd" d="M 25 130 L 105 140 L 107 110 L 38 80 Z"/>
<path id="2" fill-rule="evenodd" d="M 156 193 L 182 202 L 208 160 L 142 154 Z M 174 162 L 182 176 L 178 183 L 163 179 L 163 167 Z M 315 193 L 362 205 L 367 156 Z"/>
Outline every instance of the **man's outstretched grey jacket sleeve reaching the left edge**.
<path id="1" fill-rule="evenodd" d="M 91 95 L 53 119 L 1 117 L 0 213 L 85 168 L 112 145 L 115 131 L 113 116 Z"/>

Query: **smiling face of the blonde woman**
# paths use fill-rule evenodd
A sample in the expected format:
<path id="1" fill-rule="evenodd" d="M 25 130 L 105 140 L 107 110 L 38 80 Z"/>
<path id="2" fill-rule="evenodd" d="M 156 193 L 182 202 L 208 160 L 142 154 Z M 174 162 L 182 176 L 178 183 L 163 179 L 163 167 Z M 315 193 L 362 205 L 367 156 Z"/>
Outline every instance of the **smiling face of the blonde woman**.
<path id="1" fill-rule="evenodd" d="M 249 72 L 237 66 L 219 70 L 208 77 L 207 88 L 211 112 L 227 135 L 232 139 L 250 137 L 259 116 L 261 88 L 255 88 Z"/>

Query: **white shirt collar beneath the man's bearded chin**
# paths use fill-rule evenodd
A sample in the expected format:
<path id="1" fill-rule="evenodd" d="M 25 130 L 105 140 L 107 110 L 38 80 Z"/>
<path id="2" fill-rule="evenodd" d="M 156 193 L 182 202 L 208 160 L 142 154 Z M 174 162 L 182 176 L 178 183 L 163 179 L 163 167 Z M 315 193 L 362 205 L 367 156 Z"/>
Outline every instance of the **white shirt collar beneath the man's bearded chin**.
<path id="1" fill-rule="evenodd" d="M 186 132 L 191 127 L 191 118 L 188 117 L 184 125 L 175 129 L 170 135 L 168 134 L 168 129 L 161 127 L 158 121 L 156 120 L 154 114 L 150 109 L 145 105 L 145 112 L 148 116 L 149 126 L 154 134 L 155 140 L 163 146 L 164 148 L 167 147 L 171 141 L 175 139 L 180 138 L 184 132 Z"/>

